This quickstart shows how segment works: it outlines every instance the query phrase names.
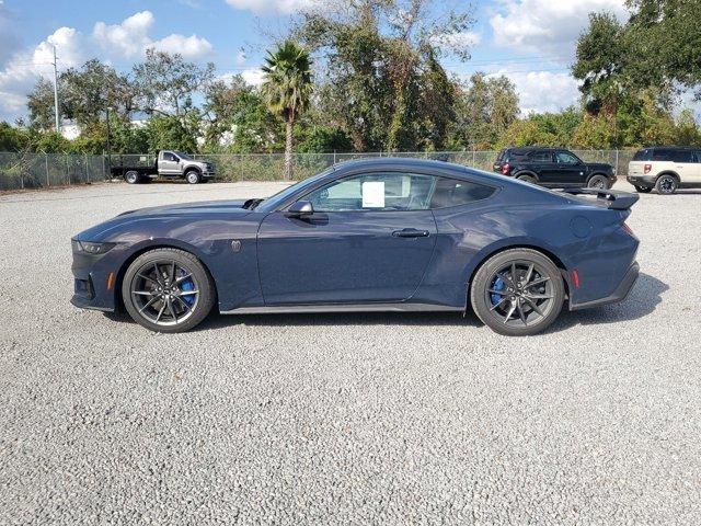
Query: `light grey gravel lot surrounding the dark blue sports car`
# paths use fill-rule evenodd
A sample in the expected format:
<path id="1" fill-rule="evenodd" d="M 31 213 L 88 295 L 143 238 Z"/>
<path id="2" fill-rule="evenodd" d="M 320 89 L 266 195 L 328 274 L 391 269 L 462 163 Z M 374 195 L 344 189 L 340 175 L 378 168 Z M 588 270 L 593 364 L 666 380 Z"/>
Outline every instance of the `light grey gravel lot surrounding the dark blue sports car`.
<path id="1" fill-rule="evenodd" d="M 0 524 L 701 524 L 701 193 L 643 195 L 630 298 L 528 339 L 451 313 L 159 335 L 68 304 L 76 232 L 280 187 L 0 197 Z"/>

